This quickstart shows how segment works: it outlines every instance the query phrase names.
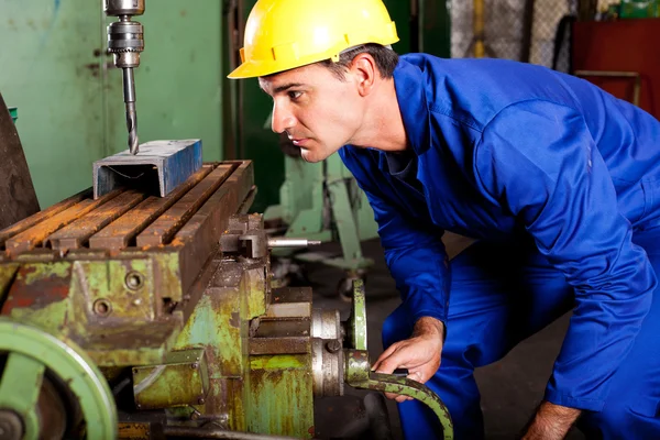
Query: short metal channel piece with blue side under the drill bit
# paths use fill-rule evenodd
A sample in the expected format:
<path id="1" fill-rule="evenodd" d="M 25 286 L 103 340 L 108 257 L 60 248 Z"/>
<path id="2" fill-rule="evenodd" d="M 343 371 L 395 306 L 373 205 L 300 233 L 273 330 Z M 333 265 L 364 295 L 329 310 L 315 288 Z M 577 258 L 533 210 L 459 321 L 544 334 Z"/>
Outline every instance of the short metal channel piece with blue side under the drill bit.
<path id="1" fill-rule="evenodd" d="M 167 196 L 201 168 L 201 141 L 151 141 L 94 163 L 94 197 L 119 187 Z"/>

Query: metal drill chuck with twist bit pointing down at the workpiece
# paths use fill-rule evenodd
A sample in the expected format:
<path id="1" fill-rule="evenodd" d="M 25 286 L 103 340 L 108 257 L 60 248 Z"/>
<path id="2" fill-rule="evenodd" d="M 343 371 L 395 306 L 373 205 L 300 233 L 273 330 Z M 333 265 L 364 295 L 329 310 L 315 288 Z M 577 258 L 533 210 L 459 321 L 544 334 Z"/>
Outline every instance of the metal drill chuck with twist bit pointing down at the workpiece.
<path id="1" fill-rule="evenodd" d="M 135 78 L 133 68 L 140 66 L 144 51 L 142 24 L 131 21 L 144 13 L 144 0 L 103 0 L 103 11 L 119 21 L 108 25 L 108 52 L 114 55 L 114 66 L 123 70 L 123 96 L 127 107 L 129 151 L 138 154 L 138 114 L 135 112 Z"/>

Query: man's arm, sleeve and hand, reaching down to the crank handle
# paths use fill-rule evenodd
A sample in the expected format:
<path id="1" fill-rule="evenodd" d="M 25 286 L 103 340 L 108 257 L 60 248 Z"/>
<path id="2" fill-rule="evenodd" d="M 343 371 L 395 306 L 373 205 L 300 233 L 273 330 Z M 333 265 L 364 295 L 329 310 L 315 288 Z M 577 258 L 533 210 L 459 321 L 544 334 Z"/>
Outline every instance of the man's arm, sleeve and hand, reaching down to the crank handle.
<path id="1" fill-rule="evenodd" d="M 391 345 L 374 369 L 382 373 L 408 369 L 410 378 L 426 382 L 440 365 L 449 304 L 449 265 L 442 234 L 425 230 L 421 224 L 413 226 L 407 212 L 395 205 L 397 196 L 391 189 L 386 194 L 387 183 L 374 180 L 381 172 L 371 154 L 351 147 L 340 151 L 374 210 L 385 261 L 402 295 L 399 307 L 415 322 L 410 338 Z M 399 400 L 403 399 L 402 396 Z"/>

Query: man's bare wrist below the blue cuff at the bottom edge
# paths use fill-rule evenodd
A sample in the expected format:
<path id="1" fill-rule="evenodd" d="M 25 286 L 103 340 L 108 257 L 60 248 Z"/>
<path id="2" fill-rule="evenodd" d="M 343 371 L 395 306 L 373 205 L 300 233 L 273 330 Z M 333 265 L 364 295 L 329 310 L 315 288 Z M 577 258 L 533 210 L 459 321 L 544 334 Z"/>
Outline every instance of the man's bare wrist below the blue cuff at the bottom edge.
<path id="1" fill-rule="evenodd" d="M 543 402 L 522 440 L 561 440 L 580 416 L 580 409 Z"/>

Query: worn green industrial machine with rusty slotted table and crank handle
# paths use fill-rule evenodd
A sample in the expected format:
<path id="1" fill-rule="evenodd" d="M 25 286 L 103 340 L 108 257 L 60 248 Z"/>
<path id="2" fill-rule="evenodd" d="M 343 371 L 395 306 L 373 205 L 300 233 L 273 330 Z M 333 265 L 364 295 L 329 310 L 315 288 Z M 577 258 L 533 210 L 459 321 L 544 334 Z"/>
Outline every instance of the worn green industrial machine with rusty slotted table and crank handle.
<path id="1" fill-rule="evenodd" d="M 84 191 L 0 231 L 3 439 L 314 438 L 314 399 L 370 371 L 364 288 L 351 319 L 272 289 L 252 163 L 205 164 L 167 196 Z"/>

